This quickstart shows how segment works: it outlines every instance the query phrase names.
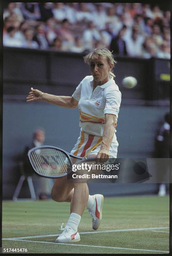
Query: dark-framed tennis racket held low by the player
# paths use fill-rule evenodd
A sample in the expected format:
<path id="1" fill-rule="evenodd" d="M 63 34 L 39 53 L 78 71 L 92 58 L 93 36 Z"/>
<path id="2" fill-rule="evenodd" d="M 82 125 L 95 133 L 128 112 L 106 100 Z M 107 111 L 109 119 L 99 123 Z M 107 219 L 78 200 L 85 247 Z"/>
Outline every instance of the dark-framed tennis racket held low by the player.
<path id="1" fill-rule="evenodd" d="M 73 156 L 54 146 L 40 146 L 28 151 L 28 159 L 38 175 L 47 178 L 61 178 L 72 171 L 74 163 L 86 161 L 89 158 Z"/>

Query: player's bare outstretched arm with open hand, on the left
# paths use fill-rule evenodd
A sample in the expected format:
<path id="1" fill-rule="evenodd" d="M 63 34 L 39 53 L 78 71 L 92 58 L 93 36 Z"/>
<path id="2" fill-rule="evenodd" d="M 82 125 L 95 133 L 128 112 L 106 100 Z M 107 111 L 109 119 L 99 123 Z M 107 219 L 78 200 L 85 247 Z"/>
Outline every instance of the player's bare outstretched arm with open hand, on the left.
<path id="1" fill-rule="evenodd" d="M 40 90 L 31 88 L 28 97 L 26 98 L 27 102 L 33 101 L 43 101 L 50 104 L 58 105 L 63 108 L 77 108 L 78 101 L 71 96 L 56 96 L 41 92 Z"/>

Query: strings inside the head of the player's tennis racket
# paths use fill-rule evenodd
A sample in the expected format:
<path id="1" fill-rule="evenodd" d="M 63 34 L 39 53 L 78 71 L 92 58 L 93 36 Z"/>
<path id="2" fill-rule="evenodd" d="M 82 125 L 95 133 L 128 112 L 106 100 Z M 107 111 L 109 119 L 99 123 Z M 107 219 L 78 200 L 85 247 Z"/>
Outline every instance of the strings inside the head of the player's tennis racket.
<path id="1" fill-rule="evenodd" d="M 30 161 L 35 171 L 45 177 L 64 176 L 70 167 L 66 155 L 54 148 L 39 148 L 32 151 Z"/>

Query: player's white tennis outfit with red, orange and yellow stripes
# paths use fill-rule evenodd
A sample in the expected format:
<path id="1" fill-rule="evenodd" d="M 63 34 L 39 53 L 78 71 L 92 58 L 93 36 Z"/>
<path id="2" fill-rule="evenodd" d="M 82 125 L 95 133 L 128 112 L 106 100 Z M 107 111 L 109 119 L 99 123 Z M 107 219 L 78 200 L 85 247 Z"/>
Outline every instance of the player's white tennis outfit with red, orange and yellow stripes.
<path id="1" fill-rule="evenodd" d="M 71 150 L 75 156 L 90 156 L 98 154 L 105 125 L 105 114 L 116 115 L 118 119 L 121 104 L 121 92 L 113 77 L 93 91 L 93 76 L 86 76 L 76 87 L 72 97 L 78 101 L 81 127 L 80 136 Z M 109 157 L 116 158 L 118 141 L 116 140 L 116 125 L 114 138 L 109 148 Z"/>

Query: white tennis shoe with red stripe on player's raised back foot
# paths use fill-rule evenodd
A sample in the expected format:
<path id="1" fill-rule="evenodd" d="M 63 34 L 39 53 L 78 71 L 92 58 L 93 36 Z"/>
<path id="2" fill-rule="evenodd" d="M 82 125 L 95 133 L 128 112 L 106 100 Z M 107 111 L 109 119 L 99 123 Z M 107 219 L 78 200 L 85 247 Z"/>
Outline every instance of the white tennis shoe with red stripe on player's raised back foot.
<path id="1" fill-rule="evenodd" d="M 89 209 L 89 214 L 92 217 L 92 226 L 94 230 L 99 228 L 101 218 L 102 218 L 102 210 L 104 203 L 104 196 L 100 194 L 93 195 L 94 197 L 94 205 L 91 209 Z"/>

